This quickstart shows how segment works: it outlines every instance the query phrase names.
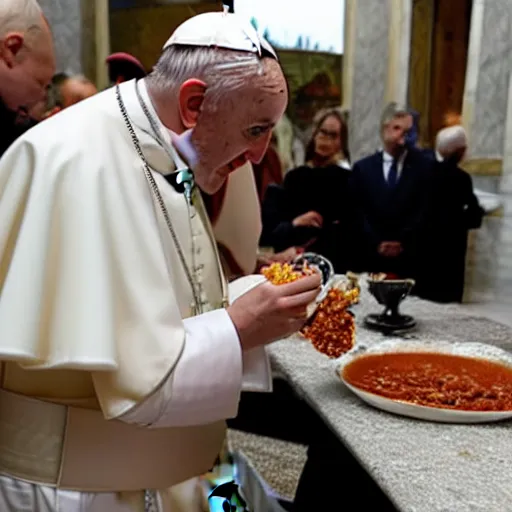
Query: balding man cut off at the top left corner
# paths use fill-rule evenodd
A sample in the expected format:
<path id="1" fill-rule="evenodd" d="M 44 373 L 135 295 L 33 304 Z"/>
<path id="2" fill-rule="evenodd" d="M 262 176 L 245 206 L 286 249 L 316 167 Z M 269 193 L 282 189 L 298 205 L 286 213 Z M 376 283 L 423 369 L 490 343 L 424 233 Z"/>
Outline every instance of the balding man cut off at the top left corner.
<path id="1" fill-rule="evenodd" d="M 55 73 L 50 27 L 35 0 L 0 2 L 0 156 L 37 124 Z"/>

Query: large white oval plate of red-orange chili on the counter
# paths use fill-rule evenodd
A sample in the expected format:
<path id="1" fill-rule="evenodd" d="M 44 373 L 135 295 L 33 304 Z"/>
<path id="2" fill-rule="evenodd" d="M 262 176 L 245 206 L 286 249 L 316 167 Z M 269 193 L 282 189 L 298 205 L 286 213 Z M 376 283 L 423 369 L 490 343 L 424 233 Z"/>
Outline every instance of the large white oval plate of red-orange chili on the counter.
<path id="1" fill-rule="evenodd" d="M 512 353 L 491 345 L 388 340 L 346 354 L 337 374 L 394 414 L 443 423 L 512 418 Z"/>

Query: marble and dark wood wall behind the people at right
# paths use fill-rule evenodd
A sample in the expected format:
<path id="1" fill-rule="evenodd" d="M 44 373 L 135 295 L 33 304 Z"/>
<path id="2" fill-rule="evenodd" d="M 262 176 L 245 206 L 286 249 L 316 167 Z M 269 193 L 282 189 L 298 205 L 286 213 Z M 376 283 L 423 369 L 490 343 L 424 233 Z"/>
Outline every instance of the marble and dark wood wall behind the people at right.
<path id="1" fill-rule="evenodd" d="M 396 75 L 407 77 L 408 103 L 423 114 L 427 145 L 448 111 L 462 111 L 470 139 L 464 167 L 477 188 L 503 203 L 470 235 L 466 300 L 512 303 L 512 2 L 347 0 L 346 21 L 343 87 L 353 154 L 377 149 L 381 109 L 401 100 L 400 86 L 390 87 Z"/>

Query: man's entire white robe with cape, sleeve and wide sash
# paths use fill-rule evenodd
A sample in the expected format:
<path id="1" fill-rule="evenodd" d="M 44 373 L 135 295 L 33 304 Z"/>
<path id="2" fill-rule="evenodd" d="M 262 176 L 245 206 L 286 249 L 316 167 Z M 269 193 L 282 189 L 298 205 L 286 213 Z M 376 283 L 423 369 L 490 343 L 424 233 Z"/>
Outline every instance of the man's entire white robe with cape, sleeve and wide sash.
<path id="1" fill-rule="evenodd" d="M 194 511 L 164 490 L 212 467 L 243 388 L 271 386 L 264 350 L 242 354 L 221 308 L 200 194 L 188 207 L 166 182 L 183 163 L 135 82 L 121 94 L 207 312 L 191 316 L 115 89 L 19 139 L 0 161 L 2 512 L 139 512 L 144 489 L 162 490 L 161 511 Z M 246 279 L 234 293 L 259 276 Z"/>

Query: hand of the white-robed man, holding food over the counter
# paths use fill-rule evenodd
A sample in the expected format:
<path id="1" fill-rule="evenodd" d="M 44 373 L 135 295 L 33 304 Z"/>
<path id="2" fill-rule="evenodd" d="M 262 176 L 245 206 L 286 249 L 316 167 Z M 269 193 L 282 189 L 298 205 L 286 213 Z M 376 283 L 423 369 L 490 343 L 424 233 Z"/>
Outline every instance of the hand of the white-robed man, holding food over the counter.
<path id="1" fill-rule="evenodd" d="M 301 329 L 306 308 L 320 293 L 320 275 L 292 283 L 265 282 L 249 290 L 228 307 L 243 350 L 286 338 Z"/>

